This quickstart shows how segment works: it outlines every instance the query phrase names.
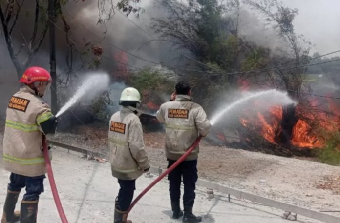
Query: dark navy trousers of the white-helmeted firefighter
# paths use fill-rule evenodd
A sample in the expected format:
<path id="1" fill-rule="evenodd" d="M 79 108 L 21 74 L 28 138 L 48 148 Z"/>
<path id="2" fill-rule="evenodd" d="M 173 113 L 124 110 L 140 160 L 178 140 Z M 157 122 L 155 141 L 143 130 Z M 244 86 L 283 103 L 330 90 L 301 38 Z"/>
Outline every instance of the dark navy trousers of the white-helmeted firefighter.
<path id="1" fill-rule="evenodd" d="M 136 189 L 136 180 L 118 179 L 118 183 L 120 186 L 117 201 L 118 206 L 120 211 L 127 211 L 132 202 L 134 190 Z"/>

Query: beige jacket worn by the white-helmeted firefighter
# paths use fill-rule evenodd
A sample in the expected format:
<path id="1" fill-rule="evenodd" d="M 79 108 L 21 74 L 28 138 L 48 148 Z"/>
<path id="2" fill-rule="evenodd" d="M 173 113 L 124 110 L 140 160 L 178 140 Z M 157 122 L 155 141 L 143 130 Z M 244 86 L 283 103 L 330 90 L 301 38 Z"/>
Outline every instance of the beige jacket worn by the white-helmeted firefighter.
<path id="1" fill-rule="evenodd" d="M 112 176 L 135 180 L 149 168 L 144 150 L 143 129 L 133 107 L 112 115 L 108 131 Z"/>

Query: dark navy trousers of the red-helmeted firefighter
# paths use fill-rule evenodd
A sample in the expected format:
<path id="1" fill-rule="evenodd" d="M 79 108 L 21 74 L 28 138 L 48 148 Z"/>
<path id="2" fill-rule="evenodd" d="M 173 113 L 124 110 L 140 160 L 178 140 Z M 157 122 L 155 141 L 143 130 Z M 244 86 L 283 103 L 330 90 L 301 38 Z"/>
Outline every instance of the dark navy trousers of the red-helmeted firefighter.
<path id="1" fill-rule="evenodd" d="M 46 176 L 26 177 L 19 174 L 11 173 L 7 189 L 10 191 L 20 192 L 22 188 L 26 187 L 26 193 L 23 195 L 23 201 L 37 201 L 39 196 L 43 193 L 43 179 Z"/>

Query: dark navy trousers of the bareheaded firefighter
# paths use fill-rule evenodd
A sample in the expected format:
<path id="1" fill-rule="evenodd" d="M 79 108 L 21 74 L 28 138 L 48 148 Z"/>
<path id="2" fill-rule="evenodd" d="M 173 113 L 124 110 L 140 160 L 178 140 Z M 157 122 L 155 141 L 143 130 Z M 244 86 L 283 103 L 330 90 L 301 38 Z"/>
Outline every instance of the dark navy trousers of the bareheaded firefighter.
<path id="1" fill-rule="evenodd" d="M 168 159 L 168 168 L 176 161 Z M 181 197 L 181 182 L 183 177 L 184 195 L 183 205 L 193 206 L 197 176 L 197 160 L 183 161 L 168 175 L 170 181 L 170 199 L 172 203 L 179 202 Z"/>

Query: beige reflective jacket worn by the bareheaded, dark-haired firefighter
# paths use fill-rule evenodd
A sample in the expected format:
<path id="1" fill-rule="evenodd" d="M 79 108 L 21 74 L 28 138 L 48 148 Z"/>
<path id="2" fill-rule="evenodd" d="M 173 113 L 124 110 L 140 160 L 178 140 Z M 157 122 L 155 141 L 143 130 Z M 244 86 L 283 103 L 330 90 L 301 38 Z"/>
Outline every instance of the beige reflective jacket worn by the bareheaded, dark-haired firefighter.
<path id="1" fill-rule="evenodd" d="M 175 101 L 161 105 L 157 119 L 165 123 L 166 156 L 170 160 L 178 160 L 195 142 L 199 135 L 206 136 L 211 124 L 203 108 L 188 95 L 176 95 Z M 186 160 L 197 160 L 197 146 Z"/>

